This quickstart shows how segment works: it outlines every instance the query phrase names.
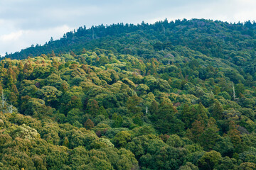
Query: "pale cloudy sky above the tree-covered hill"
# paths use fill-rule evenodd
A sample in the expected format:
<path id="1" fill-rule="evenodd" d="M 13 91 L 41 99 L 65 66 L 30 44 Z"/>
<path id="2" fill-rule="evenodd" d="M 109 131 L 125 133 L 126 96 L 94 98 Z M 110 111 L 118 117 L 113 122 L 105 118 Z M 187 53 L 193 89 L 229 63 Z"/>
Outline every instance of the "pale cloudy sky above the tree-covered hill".
<path id="1" fill-rule="evenodd" d="M 238 23 L 256 21 L 255 0 L 0 0 L 0 55 L 80 26 L 154 23 L 205 18 Z"/>

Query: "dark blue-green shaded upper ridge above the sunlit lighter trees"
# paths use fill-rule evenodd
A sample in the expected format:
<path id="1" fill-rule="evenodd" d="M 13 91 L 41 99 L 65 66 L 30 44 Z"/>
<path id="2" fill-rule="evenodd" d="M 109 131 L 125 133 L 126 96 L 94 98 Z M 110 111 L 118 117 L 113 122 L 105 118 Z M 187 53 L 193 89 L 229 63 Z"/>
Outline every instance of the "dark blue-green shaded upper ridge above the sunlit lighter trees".
<path id="1" fill-rule="evenodd" d="M 50 54 L 52 51 L 65 54 L 75 53 L 82 48 L 93 50 L 100 47 L 116 50 L 122 54 L 142 55 L 142 50 L 164 50 L 176 45 L 189 47 L 211 57 L 228 59 L 232 50 L 251 49 L 255 45 L 256 23 L 227 23 L 209 20 L 159 21 L 154 24 L 113 24 L 111 26 L 80 27 L 65 33 L 60 40 L 50 40 L 45 45 L 32 45 L 21 52 L 6 55 L 11 59 L 26 59 L 30 56 Z M 141 46 L 140 46 L 141 45 Z M 114 49 L 113 49 L 114 48 Z"/>

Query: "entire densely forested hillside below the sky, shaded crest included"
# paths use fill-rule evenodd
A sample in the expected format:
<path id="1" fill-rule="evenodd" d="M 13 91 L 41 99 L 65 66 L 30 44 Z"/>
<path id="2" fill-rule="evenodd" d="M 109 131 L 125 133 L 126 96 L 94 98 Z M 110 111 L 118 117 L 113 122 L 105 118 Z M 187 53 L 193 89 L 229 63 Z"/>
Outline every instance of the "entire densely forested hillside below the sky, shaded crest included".
<path id="1" fill-rule="evenodd" d="M 0 62 L 0 169 L 256 169 L 256 24 L 78 28 Z"/>

